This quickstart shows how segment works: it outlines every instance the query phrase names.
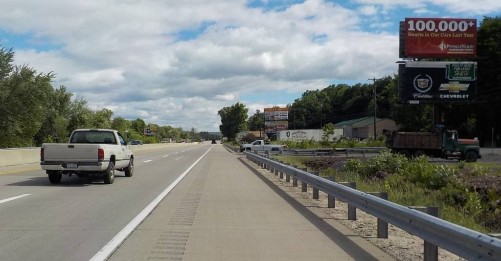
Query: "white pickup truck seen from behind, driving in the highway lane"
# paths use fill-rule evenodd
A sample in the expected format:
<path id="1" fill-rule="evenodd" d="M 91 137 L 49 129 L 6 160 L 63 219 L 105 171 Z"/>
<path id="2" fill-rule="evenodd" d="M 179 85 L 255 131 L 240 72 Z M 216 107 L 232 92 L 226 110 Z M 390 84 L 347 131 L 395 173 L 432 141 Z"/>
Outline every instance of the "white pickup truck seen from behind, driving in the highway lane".
<path id="1" fill-rule="evenodd" d="M 134 155 L 116 130 L 79 129 L 71 133 L 69 143 L 42 144 L 40 165 L 51 183 L 61 182 L 63 174 L 76 174 L 102 177 L 104 183 L 111 184 L 115 170 L 132 176 Z"/>

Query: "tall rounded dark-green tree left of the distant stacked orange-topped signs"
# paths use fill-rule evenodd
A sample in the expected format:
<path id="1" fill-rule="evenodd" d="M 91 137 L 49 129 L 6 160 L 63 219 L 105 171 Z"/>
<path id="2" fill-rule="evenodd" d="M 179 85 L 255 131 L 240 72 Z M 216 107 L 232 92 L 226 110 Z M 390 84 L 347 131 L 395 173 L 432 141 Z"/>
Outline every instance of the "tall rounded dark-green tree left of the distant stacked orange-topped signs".
<path id="1" fill-rule="evenodd" d="M 229 107 L 224 107 L 217 112 L 221 117 L 221 125 L 219 130 L 224 137 L 229 140 L 235 140 L 235 134 L 247 129 L 247 111 L 242 103 L 235 103 Z"/>

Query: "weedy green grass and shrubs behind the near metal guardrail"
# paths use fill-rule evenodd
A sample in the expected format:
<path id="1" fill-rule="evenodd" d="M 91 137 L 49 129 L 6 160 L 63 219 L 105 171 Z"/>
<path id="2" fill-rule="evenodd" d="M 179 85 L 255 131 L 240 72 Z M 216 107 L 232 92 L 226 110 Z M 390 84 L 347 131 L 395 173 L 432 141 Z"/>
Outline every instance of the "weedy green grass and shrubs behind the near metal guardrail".
<path id="1" fill-rule="evenodd" d="M 501 231 L 501 165 L 431 164 L 421 157 L 408 161 L 389 151 L 360 161 L 345 162 L 277 156 L 291 165 L 357 182 L 360 191 L 387 191 L 389 200 L 404 206 L 438 206 L 440 218 L 480 232 Z M 497 182 L 497 183 L 496 183 Z"/>

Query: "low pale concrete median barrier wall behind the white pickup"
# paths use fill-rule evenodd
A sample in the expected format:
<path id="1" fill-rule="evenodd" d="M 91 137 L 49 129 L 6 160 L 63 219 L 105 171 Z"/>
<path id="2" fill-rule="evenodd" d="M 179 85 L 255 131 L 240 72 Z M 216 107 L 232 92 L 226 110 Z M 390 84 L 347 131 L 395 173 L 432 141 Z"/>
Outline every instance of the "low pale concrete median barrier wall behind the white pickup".
<path id="1" fill-rule="evenodd" d="M 181 147 L 196 143 L 155 143 L 131 146 L 132 151 Z M 0 150 L 0 167 L 40 162 L 40 148 Z"/>

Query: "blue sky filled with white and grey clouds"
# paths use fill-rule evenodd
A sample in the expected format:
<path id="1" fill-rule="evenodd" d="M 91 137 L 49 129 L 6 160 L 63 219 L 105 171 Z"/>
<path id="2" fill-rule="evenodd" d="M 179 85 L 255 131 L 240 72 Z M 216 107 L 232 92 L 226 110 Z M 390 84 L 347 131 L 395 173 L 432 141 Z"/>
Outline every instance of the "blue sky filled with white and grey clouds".
<path id="1" fill-rule="evenodd" d="M 499 0 L 0 0 L 0 44 L 91 109 L 218 131 L 222 107 L 397 71 L 406 17 L 501 13 Z M 6 11 L 9 12 L 6 12 Z"/>

